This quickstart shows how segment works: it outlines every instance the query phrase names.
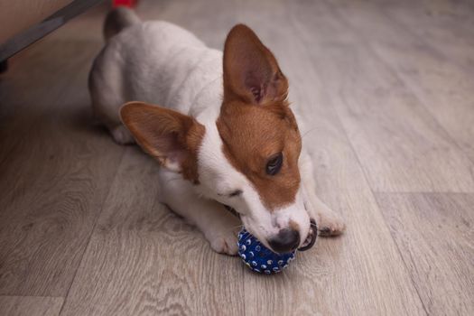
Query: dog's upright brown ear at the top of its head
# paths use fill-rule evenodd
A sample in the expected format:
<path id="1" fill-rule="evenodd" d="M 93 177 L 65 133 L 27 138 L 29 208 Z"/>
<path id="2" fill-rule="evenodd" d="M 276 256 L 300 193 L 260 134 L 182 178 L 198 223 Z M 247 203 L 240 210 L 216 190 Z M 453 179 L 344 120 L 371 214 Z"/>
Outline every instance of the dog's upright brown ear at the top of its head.
<path id="1" fill-rule="evenodd" d="M 234 26 L 224 47 L 224 101 L 265 104 L 284 100 L 287 93 L 288 81 L 274 54 L 246 25 Z"/>

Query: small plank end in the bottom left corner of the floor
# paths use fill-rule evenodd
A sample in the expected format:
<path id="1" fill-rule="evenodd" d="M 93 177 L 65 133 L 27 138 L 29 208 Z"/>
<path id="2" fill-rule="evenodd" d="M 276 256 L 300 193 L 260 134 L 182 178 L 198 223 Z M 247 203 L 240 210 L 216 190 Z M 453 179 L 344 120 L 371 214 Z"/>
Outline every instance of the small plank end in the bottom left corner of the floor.
<path id="1" fill-rule="evenodd" d="M 8 316 L 55 316 L 62 297 L 0 296 L 0 314 Z"/>

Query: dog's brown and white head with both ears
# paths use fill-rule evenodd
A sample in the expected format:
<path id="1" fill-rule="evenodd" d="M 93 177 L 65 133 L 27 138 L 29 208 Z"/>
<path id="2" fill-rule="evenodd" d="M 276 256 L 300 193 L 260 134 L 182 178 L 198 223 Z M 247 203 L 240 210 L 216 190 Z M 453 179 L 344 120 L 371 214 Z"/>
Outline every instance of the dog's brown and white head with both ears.
<path id="1" fill-rule="evenodd" d="M 202 196 L 236 209 L 246 229 L 275 252 L 312 245 L 316 232 L 302 199 L 302 139 L 274 55 L 245 25 L 224 49 L 224 96 L 217 121 L 132 102 L 125 125 L 164 167 Z"/>

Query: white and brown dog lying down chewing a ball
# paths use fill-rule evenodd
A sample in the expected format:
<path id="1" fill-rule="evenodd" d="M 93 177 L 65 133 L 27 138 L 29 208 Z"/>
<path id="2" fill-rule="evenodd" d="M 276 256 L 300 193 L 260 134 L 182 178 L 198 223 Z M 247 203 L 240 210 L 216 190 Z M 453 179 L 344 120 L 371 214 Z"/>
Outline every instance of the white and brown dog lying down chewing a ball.
<path id="1" fill-rule="evenodd" d="M 118 8 L 104 33 L 88 82 L 93 111 L 116 143 L 136 142 L 161 164 L 159 199 L 212 249 L 236 255 L 242 224 L 275 253 L 342 233 L 315 195 L 288 80 L 249 27 L 233 27 L 222 52 Z"/>

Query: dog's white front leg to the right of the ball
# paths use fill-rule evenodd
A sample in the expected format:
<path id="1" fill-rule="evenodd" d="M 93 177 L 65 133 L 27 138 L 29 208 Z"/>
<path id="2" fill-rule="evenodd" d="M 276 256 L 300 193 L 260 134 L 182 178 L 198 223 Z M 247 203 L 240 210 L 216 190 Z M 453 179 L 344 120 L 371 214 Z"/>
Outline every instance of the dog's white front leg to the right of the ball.
<path id="1" fill-rule="evenodd" d="M 324 204 L 316 196 L 316 183 L 314 181 L 311 157 L 308 153 L 302 153 L 300 158 L 300 171 L 302 172 L 302 190 L 306 208 L 311 218 L 316 220 L 320 236 L 338 236 L 346 225 L 344 220 Z"/>

